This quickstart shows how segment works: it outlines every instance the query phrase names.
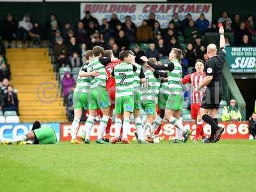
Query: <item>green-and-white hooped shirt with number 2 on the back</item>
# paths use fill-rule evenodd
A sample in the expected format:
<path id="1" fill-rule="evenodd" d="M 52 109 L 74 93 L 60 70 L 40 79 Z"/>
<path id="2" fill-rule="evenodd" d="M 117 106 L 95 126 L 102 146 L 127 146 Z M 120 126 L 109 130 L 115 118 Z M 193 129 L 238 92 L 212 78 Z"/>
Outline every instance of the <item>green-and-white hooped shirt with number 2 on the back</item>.
<path id="1" fill-rule="evenodd" d="M 134 65 L 122 61 L 116 65 L 112 74 L 116 81 L 116 98 L 132 96 L 134 92 Z"/>

